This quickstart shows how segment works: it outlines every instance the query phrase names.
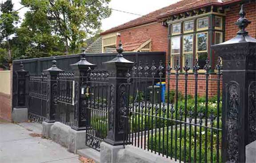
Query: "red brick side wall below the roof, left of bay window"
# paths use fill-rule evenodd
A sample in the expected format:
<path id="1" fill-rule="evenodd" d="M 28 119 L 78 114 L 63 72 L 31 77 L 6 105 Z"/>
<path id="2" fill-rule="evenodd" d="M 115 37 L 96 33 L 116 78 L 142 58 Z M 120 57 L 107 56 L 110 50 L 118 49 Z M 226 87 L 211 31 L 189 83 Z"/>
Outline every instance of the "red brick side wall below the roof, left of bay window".
<path id="1" fill-rule="evenodd" d="M 129 44 L 146 41 L 151 38 L 152 52 L 168 52 L 168 27 L 164 27 L 160 22 L 129 28 L 119 31 L 119 33 L 121 33 L 121 36 L 116 39 L 117 45 L 120 40 L 123 44 Z"/>

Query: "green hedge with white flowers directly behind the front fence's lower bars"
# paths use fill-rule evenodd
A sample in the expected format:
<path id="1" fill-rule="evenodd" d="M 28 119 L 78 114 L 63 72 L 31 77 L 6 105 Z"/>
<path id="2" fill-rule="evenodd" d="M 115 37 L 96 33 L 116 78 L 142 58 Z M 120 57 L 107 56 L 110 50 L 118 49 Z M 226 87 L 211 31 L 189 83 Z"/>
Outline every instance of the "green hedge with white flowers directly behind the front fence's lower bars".
<path id="1" fill-rule="evenodd" d="M 178 127 L 180 127 L 178 125 Z M 175 139 L 175 133 L 177 133 L 177 139 Z M 185 137 L 185 133 L 186 133 L 186 137 Z M 201 160 L 204 161 L 204 154 L 206 152 L 205 150 L 205 146 L 204 144 L 207 143 L 207 162 L 211 162 L 211 137 L 212 142 L 213 142 L 213 162 L 216 162 L 216 145 L 217 145 L 217 131 L 212 131 L 210 129 L 207 130 L 207 142 L 205 142 L 205 138 L 206 138 L 206 132 L 204 131 L 204 128 L 202 128 L 201 131 L 201 143 L 199 142 L 200 140 L 200 129 L 199 127 L 197 127 L 196 129 L 196 135 L 195 135 L 195 129 L 194 127 L 192 127 L 191 130 L 191 162 L 194 162 L 194 152 L 196 152 L 196 163 L 200 162 L 200 145 L 201 145 Z M 196 141 L 195 141 L 195 137 L 196 137 Z M 180 159 L 180 155 L 181 155 L 181 161 L 184 161 L 184 147 L 186 146 L 186 162 L 188 162 L 189 160 L 189 144 L 190 144 L 190 139 L 189 139 L 189 129 L 187 128 L 187 131 L 185 132 L 184 127 L 181 130 L 181 136 L 180 136 L 180 130 L 178 129 L 177 132 L 173 131 L 169 131 L 169 134 L 167 134 L 167 132 L 165 131 L 164 136 L 163 136 L 163 132 L 161 131 L 160 134 L 157 132 L 156 135 L 153 135 L 153 137 L 149 137 L 149 139 L 153 140 L 152 142 L 149 141 L 148 144 L 148 149 L 149 150 L 155 150 L 156 152 L 160 152 L 161 154 L 164 153 L 164 155 L 168 155 L 171 156 L 172 153 L 172 157 L 175 157 L 175 144 L 177 142 L 177 159 Z M 186 139 L 186 142 L 185 142 Z M 219 131 L 219 143 L 221 143 L 221 132 Z M 181 152 L 180 152 L 180 140 L 181 140 Z M 164 142 L 164 148 L 163 148 L 163 142 Z M 168 143 L 167 143 L 168 142 Z M 196 150 L 195 150 L 195 142 L 196 142 Z M 160 144 L 160 146 L 159 146 Z M 219 155 L 221 154 L 221 144 L 219 144 L 220 150 L 219 150 Z M 163 150 L 164 149 L 164 150 Z M 168 149 L 168 153 L 167 153 L 167 149 Z M 220 155 L 221 158 L 221 155 Z M 219 158 L 219 160 L 221 160 Z"/>

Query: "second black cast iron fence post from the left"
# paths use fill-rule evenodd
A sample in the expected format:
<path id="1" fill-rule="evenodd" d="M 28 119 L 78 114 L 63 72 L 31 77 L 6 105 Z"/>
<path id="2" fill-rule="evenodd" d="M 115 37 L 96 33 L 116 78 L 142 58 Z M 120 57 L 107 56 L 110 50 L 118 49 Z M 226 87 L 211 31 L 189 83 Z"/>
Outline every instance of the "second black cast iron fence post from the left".
<path id="1" fill-rule="evenodd" d="M 57 68 L 56 59 L 54 57 L 52 60 L 52 67 L 44 70 L 44 74 L 47 76 L 47 104 L 46 119 L 44 121 L 47 123 L 55 122 L 56 108 L 54 102 L 55 100 L 57 100 L 57 77 L 60 72 L 62 72 L 62 70 L 60 68 Z"/>

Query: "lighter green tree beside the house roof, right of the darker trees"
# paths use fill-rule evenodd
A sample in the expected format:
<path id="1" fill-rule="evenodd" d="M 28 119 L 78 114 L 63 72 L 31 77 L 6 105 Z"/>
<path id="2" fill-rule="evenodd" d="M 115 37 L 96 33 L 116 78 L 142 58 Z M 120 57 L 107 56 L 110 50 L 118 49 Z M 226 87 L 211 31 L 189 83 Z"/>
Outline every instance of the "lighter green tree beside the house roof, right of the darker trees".
<path id="1" fill-rule="evenodd" d="M 111 14 L 107 6 L 110 0 L 22 0 L 22 4 L 40 15 L 37 20 L 47 18 L 51 32 L 59 36 L 68 48 L 76 52 L 83 40 L 98 30 L 101 21 Z"/>

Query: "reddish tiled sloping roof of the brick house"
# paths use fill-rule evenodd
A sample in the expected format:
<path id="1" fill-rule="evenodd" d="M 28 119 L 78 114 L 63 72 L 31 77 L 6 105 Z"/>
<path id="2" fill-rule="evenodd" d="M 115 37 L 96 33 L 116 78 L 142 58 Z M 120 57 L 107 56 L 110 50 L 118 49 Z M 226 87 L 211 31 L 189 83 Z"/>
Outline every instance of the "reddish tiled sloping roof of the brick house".
<path id="1" fill-rule="evenodd" d="M 102 32 L 100 35 L 105 35 L 111 32 L 120 31 L 127 28 L 136 27 L 142 24 L 148 24 L 151 22 L 159 21 L 161 18 L 177 14 L 180 12 L 186 12 L 196 8 L 201 8 L 210 5 L 226 5 L 235 3 L 241 0 L 180 0 L 175 4 L 171 4 L 167 7 L 161 8 L 154 12 L 150 12 L 147 15 L 141 16 L 135 20 L 129 21 L 125 24 L 116 26 L 114 28 L 108 29 L 105 32 Z"/>

